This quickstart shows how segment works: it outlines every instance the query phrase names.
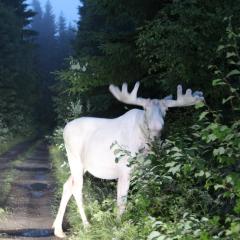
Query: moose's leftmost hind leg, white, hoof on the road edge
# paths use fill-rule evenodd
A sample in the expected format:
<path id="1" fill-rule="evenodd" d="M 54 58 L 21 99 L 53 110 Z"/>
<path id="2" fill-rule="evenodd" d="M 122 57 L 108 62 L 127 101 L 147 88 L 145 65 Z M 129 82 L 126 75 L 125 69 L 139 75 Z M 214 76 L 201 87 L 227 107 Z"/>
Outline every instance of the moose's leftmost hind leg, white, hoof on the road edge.
<path id="1" fill-rule="evenodd" d="M 55 236 L 59 238 L 64 238 L 65 234 L 62 230 L 62 221 L 63 221 L 63 216 L 67 207 L 67 203 L 69 199 L 72 196 L 72 176 L 68 178 L 66 183 L 63 185 L 63 193 L 62 193 L 62 199 L 61 203 L 58 209 L 57 217 L 53 223 L 53 228 L 54 228 L 54 234 Z"/>

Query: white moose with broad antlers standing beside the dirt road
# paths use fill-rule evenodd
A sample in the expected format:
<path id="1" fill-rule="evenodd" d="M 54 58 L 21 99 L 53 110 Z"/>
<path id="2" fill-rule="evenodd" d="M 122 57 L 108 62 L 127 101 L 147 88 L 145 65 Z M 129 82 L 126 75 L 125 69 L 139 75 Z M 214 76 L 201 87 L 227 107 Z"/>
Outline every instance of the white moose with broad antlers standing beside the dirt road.
<path id="1" fill-rule="evenodd" d="M 177 100 L 172 96 L 164 99 L 144 99 L 137 97 L 139 82 L 131 93 L 127 84 L 122 85 L 122 91 L 114 85 L 109 90 L 120 102 L 143 107 L 144 110 L 132 109 L 115 119 L 81 117 L 69 122 L 64 129 L 64 142 L 71 170 L 71 176 L 63 186 L 63 194 L 57 217 L 54 221 L 54 234 L 63 238 L 62 221 L 67 203 L 73 195 L 86 227 L 89 223 L 83 209 L 82 187 L 83 175 L 88 171 L 101 179 L 118 179 L 117 205 L 119 216 L 124 212 L 126 197 L 130 183 L 130 167 L 127 159 L 115 162 L 115 155 L 110 148 L 117 142 L 132 154 L 147 147 L 150 139 L 160 135 L 164 125 L 164 117 L 169 107 L 183 107 L 203 101 L 202 92 L 188 89 L 182 94 L 182 87 L 177 89 Z M 146 132 L 148 137 L 146 137 Z"/>

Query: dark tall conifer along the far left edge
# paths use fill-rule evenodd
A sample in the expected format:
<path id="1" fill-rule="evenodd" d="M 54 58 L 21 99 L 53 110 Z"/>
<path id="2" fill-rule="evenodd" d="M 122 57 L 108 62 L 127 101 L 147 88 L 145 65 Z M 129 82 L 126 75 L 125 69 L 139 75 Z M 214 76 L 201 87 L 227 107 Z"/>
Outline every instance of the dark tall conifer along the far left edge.
<path id="1" fill-rule="evenodd" d="M 19 116 L 32 118 L 36 103 L 32 31 L 26 28 L 33 12 L 13 0 L 1 1 L 0 12 L 0 115 L 12 126 Z"/>

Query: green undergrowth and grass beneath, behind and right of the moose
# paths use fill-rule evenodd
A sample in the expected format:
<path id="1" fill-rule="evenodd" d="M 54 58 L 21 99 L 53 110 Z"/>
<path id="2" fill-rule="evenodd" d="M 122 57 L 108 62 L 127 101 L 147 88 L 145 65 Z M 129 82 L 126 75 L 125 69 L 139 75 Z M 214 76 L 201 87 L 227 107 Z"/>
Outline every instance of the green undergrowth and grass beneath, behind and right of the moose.
<path id="1" fill-rule="evenodd" d="M 223 96 L 215 104 L 218 107 L 202 103 L 195 111 L 172 113 L 164 140 L 152 143 L 147 156 L 129 155 L 134 171 L 127 211 L 120 221 L 116 218 L 116 182 L 87 174 L 84 203 L 91 227 L 83 229 L 71 202 L 69 239 L 239 239 L 239 38 L 229 21 L 226 38 L 216 52 L 218 64 L 209 66 L 216 76 L 212 85 Z M 69 109 L 68 119 L 76 117 L 76 109 L 81 115 L 81 107 Z M 59 128 L 51 150 L 58 200 L 69 175 L 61 135 Z"/>

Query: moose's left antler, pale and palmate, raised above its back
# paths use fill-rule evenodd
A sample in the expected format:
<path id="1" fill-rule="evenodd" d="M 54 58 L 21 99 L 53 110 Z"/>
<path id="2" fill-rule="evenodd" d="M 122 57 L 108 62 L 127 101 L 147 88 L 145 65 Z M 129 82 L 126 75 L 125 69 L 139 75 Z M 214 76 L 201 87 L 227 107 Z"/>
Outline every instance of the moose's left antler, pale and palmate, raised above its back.
<path id="1" fill-rule="evenodd" d="M 121 91 L 118 87 L 112 84 L 109 86 L 109 90 L 112 95 L 120 102 L 144 107 L 146 104 L 146 99 L 137 97 L 139 85 L 140 83 L 136 82 L 132 92 L 130 93 L 128 92 L 127 83 L 123 83 Z"/>

